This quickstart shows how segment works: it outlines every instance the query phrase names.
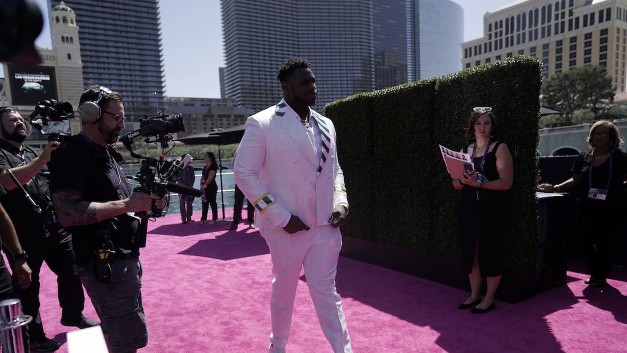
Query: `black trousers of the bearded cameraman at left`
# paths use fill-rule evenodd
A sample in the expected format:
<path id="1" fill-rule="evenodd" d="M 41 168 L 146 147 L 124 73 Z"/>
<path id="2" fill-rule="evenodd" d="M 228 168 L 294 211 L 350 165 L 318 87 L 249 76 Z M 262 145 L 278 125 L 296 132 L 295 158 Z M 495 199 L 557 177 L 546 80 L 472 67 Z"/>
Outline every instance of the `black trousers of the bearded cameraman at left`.
<path id="1" fill-rule="evenodd" d="M 19 233 L 18 233 L 19 237 Z M 80 320 L 83 308 L 85 307 L 85 295 L 80 279 L 74 274 L 72 268 L 72 245 L 71 237 L 63 242 L 50 236 L 41 236 L 41 241 L 34 244 L 33 241 L 21 241 L 22 248 L 28 254 L 28 266 L 33 271 L 31 284 L 26 289 L 17 288 L 19 299 L 22 301 L 22 310 L 26 315 L 31 315 L 33 321 L 28 324 L 31 340 L 39 341 L 44 339 L 45 332 L 40 316 L 40 271 L 44 261 L 48 268 L 56 274 L 57 295 L 61 307 L 61 320 Z M 9 259 L 9 264 L 13 268 L 15 261 L 13 256 L 4 248 L 4 253 Z M 16 278 L 13 278 L 16 283 Z"/>

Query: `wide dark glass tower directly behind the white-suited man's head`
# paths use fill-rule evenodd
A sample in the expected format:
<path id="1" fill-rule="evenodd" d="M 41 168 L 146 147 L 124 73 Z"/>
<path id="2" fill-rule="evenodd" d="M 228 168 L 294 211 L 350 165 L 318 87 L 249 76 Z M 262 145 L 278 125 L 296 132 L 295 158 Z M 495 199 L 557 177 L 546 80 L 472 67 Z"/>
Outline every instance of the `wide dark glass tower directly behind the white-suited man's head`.
<path id="1" fill-rule="evenodd" d="M 256 110 L 277 103 L 277 69 L 306 58 L 317 78 L 315 109 L 374 89 L 372 9 L 362 0 L 221 0 L 224 97 Z"/>

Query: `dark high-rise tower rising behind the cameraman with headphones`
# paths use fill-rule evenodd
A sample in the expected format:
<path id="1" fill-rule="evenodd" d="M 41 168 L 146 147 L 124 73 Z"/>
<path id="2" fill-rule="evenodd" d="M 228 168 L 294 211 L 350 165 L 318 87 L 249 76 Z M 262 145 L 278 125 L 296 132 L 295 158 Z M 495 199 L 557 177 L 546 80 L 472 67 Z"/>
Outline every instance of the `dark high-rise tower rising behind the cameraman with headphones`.
<path id="1" fill-rule="evenodd" d="M 158 1 L 69 0 L 65 4 L 76 13 L 83 85 L 101 84 L 120 92 L 131 121 L 164 109 Z M 60 44 L 53 37 L 53 46 Z"/>

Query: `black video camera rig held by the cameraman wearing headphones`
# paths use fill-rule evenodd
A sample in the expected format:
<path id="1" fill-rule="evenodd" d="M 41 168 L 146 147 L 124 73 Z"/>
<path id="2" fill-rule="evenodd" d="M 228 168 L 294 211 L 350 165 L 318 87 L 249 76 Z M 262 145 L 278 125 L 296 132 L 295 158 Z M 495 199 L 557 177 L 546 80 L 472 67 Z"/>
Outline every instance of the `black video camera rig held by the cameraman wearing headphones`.
<path id="1" fill-rule="evenodd" d="M 142 160 L 139 171 L 135 176 L 127 176 L 132 180 L 139 182 L 140 186 L 135 188 L 134 192 L 155 193 L 161 197 L 167 195 L 167 192 L 182 193 L 200 197 L 201 191 L 195 188 L 186 187 L 176 183 L 177 178 L 181 175 L 183 168 L 187 166 L 191 156 L 186 155 L 185 158 L 176 161 L 166 160 L 165 155 L 169 151 L 165 151 L 169 147 L 168 142 L 172 141 L 172 134 L 185 131 L 183 121 L 180 115 L 167 116 L 157 111 L 156 116 L 144 117 L 139 120 L 140 128 L 125 134 L 120 138 L 122 144 L 129 150 L 130 155 L 134 158 Z M 159 142 L 162 154 L 159 158 L 151 158 L 138 155 L 133 151 L 133 139 L 142 136 L 145 143 Z M 174 146 L 172 146 L 174 148 Z M 159 182 L 155 180 L 159 177 Z M 169 200 L 164 210 L 153 207 L 152 213 L 139 212 L 137 215 L 142 219 L 149 217 L 163 217 L 167 213 Z M 145 224 L 145 222 L 144 222 Z"/>

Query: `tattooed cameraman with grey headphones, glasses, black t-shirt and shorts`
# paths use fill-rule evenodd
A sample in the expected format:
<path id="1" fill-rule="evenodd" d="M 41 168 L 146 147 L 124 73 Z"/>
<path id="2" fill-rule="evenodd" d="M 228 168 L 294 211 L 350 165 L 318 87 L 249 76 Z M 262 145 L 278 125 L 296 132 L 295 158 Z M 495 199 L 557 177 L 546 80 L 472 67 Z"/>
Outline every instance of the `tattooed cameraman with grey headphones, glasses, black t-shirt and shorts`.
<path id="1" fill-rule="evenodd" d="M 53 201 L 61 224 L 72 233 L 75 271 L 92 299 L 111 352 L 135 352 L 148 342 L 139 261 L 140 239 L 146 234 L 129 212 L 150 212 L 153 202 L 162 209 L 166 200 L 131 193 L 124 170 L 113 158 L 117 151 L 111 144 L 124 129 L 122 96 L 94 85 L 81 95 L 78 112 L 82 132 L 52 153 Z"/>

